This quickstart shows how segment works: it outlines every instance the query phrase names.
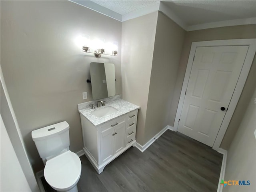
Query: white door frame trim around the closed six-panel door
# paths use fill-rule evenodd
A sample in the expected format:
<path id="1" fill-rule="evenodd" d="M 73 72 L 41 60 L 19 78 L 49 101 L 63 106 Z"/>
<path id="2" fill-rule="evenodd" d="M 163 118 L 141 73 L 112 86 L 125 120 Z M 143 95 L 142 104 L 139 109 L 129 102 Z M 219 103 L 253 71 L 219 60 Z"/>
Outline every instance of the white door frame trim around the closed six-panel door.
<path id="1" fill-rule="evenodd" d="M 212 47 L 212 46 L 249 46 L 248 52 L 246 54 L 246 58 L 244 60 L 244 65 L 242 67 L 240 76 L 238 78 L 238 82 L 236 84 L 234 93 L 232 95 L 230 104 L 228 106 L 228 111 L 226 112 L 226 114 L 224 116 L 224 119 L 220 126 L 220 130 L 218 131 L 218 134 L 216 136 L 216 139 L 215 139 L 213 147 L 212 147 L 214 150 L 219 150 L 220 144 L 222 142 L 222 139 L 224 138 L 224 134 L 226 133 L 229 122 L 232 118 L 232 115 L 236 108 L 236 104 L 238 103 L 238 100 L 239 100 L 242 90 L 244 88 L 244 84 L 246 82 L 248 73 L 250 71 L 252 61 L 254 58 L 254 54 L 256 51 L 256 39 L 232 39 L 232 40 L 214 40 L 214 41 L 192 42 L 192 45 L 190 48 L 190 54 L 188 57 L 188 64 L 186 67 L 186 73 L 185 73 L 185 77 L 184 77 L 183 84 L 182 84 L 182 90 L 180 93 L 178 109 L 177 109 L 176 117 L 174 120 L 174 126 L 173 126 L 174 131 L 178 131 L 179 119 L 181 116 L 181 112 L 182 112 L 182 108 L 183 108 L 183 104 L 184 104 L 184 100 L 185 100 L 185 92 L 188 87 L 188 81 L 190 78 L 190 72 L 192 70 L 193 58 L 196 54 L 196 48 Z"/>

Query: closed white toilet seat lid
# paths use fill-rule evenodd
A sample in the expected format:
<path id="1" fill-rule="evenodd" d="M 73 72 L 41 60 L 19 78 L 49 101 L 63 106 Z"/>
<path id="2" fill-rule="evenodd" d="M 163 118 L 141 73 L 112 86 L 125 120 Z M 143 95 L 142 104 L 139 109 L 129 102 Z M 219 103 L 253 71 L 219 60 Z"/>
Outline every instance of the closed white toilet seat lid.
<path id="1" fill-rule="evenodd" d="M 67 151 L 46 162 L 44 178 L 54 188 L 69 188 L 80 178 L 81 168 L 77 154 Z"/>

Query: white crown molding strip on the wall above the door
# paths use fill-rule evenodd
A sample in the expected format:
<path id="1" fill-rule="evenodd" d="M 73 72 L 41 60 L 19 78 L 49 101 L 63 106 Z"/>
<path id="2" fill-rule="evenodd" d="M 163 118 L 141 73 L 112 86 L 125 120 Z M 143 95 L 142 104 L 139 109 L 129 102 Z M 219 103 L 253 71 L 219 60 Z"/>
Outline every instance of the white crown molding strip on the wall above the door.
<path id="1" fill-rule="evenodd" d="M 198 24 L 198 25 L 190 25 L 187 27 L 187 31 L 236 26 L 236 25 L 249 25 L 249 24 L 256 24 L 256 18 L 252 17 L 252 18 L 246 18 L 246 19 L 234 19 L 234 20 Z"/>

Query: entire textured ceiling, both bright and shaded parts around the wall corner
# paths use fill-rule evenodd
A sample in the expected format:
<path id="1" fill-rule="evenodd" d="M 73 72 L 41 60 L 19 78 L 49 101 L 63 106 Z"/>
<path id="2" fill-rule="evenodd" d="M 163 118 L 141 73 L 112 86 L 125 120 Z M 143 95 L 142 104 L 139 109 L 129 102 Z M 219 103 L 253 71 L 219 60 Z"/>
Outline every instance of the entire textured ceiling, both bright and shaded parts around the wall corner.
<path id="1" fill-rule="evenodd" d="M 92 2 L 124 15 L 157 0 L 93 0 Z M 256 17 L 255 0 L 162 0 L 172 13 L 188 26 Z"/>

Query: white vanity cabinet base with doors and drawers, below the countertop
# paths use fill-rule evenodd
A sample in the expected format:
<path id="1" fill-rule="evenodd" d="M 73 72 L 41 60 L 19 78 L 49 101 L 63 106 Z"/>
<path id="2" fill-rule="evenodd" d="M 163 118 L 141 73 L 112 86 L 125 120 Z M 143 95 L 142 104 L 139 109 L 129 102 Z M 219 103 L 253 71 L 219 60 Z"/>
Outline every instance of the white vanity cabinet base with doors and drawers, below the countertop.
<path id="1" fill-rule="evenodd" d="M 80 114 L 84 153 L 98 174 L 125 150 L 135 146 L 137 114 L 138 109 L 98 126 Z"/>

